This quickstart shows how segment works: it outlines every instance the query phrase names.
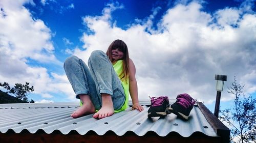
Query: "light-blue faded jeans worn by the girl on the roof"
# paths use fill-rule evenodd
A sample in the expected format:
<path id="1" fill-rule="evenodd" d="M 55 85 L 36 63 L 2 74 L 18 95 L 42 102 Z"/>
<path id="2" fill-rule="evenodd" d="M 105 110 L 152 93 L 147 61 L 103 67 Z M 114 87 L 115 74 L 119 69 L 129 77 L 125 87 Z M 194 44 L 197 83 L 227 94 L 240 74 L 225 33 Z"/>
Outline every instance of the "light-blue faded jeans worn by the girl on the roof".
<path id="1" fill-rule="evenodd" d="M 108 56 L 103 51 L 93 51 L 88 66 L 74 55 L 64 63 L 76 98 L 79 99 L 80 94 L 89 95 L 98 110 L 102 106 L 101 94 L 105 93 L 112 96 L 114 110 L 120 109 L 125 101 L 124 90 Z"/>

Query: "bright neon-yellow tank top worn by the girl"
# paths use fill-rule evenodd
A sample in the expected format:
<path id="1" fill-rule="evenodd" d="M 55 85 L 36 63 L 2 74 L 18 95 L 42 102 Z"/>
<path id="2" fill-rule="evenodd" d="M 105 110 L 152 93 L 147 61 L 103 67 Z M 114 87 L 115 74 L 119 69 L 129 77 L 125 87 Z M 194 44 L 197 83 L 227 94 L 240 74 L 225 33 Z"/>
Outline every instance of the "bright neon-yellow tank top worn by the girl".
<path id="1" fill-rule="evenodd" d="M 116 71 L 118 77 L 121 80 L 122 77 L 122 71 L 123 71 L 123 61 L 119 60 L 117 61 L 114 65 L 114 70 Z M 123 85 L 123 90 L 124 90 L 124 94 L 125 94 L 125 101 L 123 106 L 119 109 L 119 110 L 115 110 L 115 112 L 120 112 L 122 110 L 125 110 L 127 107 L 129 107 L 128 105 L 128 101 L 129 101 L 129 79 L 127 80 L 127 82 L 125 81 L 125 79 L 123 79 L 123 81 L 121 80 L 121 83 Z"/>

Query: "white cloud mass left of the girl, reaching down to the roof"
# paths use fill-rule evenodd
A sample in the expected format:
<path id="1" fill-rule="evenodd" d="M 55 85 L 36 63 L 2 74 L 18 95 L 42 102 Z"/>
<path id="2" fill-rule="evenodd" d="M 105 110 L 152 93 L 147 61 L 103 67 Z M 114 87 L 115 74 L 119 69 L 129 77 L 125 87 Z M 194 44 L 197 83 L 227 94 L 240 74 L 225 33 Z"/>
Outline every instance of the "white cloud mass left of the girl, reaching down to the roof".
<path id="1" fill-rule="evenodd" d="M 50 93 L 62 93 L 74 99 L 71 85 L 65 75 L 49 74 L 48 69 L 29 65 L 31 61 L 62 68 L 54 55 L 52 33 L 44 21 L 34 19 L 23 6 L 33 1 L 0 1 L 0 82 L 30 82 L 32 94 L 52 98 Z M 37 64 L 37 65 L 39 65 Z M 62 90 L 63 89 L 63 90 Z M 73 95 L 73 97 L 72 97 Z"/>

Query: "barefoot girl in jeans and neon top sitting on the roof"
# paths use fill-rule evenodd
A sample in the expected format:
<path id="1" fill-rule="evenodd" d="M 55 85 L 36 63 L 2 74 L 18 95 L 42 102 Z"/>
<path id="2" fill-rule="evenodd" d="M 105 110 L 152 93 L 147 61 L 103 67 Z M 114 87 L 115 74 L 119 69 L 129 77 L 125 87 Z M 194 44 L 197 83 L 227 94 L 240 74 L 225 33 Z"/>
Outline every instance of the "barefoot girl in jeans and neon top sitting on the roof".
<path id="1" fill-rule="evenodd" d="M 95 110 L 94 118 L 112 116 L 114 112 L 128 107 L 129 92 L 132 109 L 143 110 L 138 100 L 135 66 L 122 40 L 112 42 L 106 54 L 100 50 L 93 51 L 88 66 L 74 55 L 64 63 L 76 98 L 82 102 L 71 117 L 89 115 Z"/>

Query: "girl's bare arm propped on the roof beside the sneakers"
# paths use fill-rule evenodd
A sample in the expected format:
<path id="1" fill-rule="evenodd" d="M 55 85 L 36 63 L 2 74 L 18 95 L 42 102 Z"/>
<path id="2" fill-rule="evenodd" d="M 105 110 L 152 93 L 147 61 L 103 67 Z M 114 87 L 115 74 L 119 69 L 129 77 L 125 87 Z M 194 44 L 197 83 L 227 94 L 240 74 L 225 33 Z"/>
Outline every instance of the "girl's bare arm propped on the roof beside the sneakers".
<path id="1" fill-rule="evenodd" d="M 142 111 L 143 107 L 139 104 L 137 80 L 135 78 L 136 69 L 131 59 L 129 59 L 129 68 L 130 68 L 129 92 L 133 102 L 132 109 L 137 109 L 139 111 Z"/>

